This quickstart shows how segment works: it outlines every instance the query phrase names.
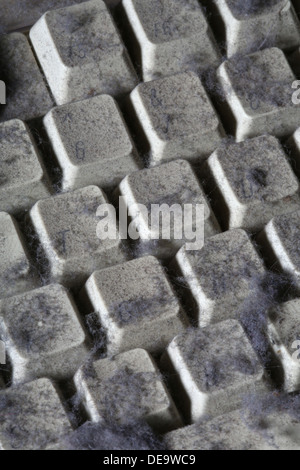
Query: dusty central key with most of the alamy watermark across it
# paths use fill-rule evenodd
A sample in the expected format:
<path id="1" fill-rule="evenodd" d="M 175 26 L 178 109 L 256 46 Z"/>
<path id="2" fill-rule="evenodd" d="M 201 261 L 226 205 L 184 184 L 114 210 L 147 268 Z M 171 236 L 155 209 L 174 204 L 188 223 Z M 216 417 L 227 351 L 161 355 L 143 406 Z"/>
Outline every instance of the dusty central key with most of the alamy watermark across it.
<path id="1" fill-rule="evenodd" d="M 204 191 L 185 160 L 134 172 L 123 179 L 119 192 L 131 214 L 131 228 L 140 235 L 135 241 L 138 253 L 149 250 L 168 257 L 185 242 L 196 249 L 197 242 L 204 243 L 204 239 L 220 232 Z M 139 210 L 141 204 L 146 211 Z M 203 221 L 196 212 L 200 207 Z"/>

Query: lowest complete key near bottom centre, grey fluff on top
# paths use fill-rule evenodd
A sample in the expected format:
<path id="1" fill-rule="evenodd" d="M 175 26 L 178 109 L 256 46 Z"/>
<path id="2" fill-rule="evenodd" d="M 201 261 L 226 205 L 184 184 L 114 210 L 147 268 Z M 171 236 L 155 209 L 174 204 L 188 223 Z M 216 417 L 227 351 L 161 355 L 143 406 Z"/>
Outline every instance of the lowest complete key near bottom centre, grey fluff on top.
<path id="1" fill-rule="evenodd" d="M 75 384 L 94 422 L 122 425 L 145 419 L 160 433 L 181 425 L 157 366 L 143 349 L 98 360 L 88 373 L 79 369 Z"/>

